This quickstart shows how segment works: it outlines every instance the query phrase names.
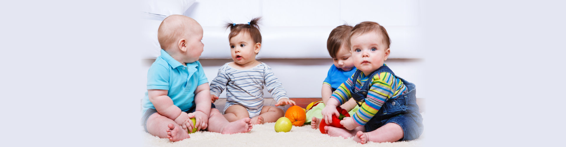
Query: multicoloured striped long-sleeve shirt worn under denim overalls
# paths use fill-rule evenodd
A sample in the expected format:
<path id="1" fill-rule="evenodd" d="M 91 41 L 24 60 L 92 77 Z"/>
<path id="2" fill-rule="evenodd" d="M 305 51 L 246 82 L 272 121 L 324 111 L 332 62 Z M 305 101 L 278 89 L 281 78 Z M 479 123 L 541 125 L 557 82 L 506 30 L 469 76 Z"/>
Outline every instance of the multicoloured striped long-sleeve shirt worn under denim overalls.
<path id="1" fill-rule="evenodd" d="M 353 76 L 354 75 L 348 78 L 348 80 L 342 83 L 340 87 L 338 87 L 338 89 L 336 89 L 334 93 L 332 93 L 331 98 L 338 100 L 338 102 L 340 102 L 340 105 L 342 105 L 352 97 L 350 88 L 353 85 Z M 363 84 L 366 83 L 368 79 L 369 78 L 362 72 L 355 83 L 355 92 L 362 88 Z M 365 100 L 366 102 L 363 102 L 359 110 L 355 113 L 354 116 L 352 116 L 354 122 L 359 126 L 366 125 L 366 123 L 371 118 L 373 118 L 375 114 L 378 113 L 379 109 L 381 108 L 381 106 L 383 106 L 383 103 L 385 101 L 389 100 L 389 98 L 397 98 L 398 96 L 401 96 L 401 94 L 406 90 L 407 88 L 405 87 L 405 84 L 403 84 L 401 79 L 398 79 L 391 73 L 380 72 L 376 74 L 374 77 L 372 77 L 371 87 L 367 93 Z"/>

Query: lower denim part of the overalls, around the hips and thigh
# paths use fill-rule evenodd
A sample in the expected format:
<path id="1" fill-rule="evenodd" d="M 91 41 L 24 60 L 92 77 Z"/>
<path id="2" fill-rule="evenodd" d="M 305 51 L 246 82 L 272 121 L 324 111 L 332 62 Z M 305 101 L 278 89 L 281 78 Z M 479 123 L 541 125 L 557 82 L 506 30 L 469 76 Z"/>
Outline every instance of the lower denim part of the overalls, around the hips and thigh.
<path id="1" fill-rule="evenodd" d="M 403 138 L 399 141 L 415 140 L 423 132 L 422 120 L 417 98 L 406 94 L 387 100 L 365 127 L 366 132 L 371 132 L 387 123 L 396 123 L 403 129 Z"/>

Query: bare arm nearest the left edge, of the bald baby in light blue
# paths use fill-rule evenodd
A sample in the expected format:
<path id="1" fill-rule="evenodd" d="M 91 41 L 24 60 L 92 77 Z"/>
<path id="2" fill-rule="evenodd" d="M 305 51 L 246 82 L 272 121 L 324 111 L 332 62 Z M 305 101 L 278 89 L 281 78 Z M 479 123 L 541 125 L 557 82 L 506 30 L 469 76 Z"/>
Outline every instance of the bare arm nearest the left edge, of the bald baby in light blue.
<path id="1" fill-rule="evenodd" d="M 160 90 L 160 89 L 148 89 L 148 97 L 149 101 L 153 103 L 157 113 L 174 120 L 175 123 L 183 126 L 183 123 L 187 122 L 188 116 L 187 113 L 181 111 L 179 107 L 173 105 L 173 100 L 168 94 L 168 90 Z M 184 114 L 184 115 L 183 115 Z M 183 129 L 186 126 L 183 126 Z"/>

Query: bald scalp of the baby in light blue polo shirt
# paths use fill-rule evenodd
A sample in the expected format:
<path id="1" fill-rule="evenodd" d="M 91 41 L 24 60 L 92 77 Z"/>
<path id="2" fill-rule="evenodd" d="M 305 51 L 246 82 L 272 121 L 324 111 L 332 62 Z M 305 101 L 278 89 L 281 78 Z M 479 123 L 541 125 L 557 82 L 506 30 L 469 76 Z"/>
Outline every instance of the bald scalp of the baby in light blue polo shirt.
<path id="1" fill-rule="evenodd" d="M 196 37 L 202 27 L 196 20 L 183 15 L 170 15 L 165 18 L 157 29 L 157 40 L 161 49 L 169 50 L 178 47 L 178 41 Z"/>

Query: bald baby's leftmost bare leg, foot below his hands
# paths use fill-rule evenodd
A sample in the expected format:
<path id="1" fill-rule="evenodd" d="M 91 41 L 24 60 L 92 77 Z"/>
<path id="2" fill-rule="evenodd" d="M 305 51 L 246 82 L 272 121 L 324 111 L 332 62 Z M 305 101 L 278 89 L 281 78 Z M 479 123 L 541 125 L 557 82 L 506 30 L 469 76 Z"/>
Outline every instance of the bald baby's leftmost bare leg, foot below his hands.
<path id="1" fill-rule="evenodd" d="M 153 113 L 149 116 L 146 127 L 151 135 L 169 139 L 169 141 L 180 141 L 190 138 L 187 129 L 183 129 L 175 121 L 159 113 Z"/>

